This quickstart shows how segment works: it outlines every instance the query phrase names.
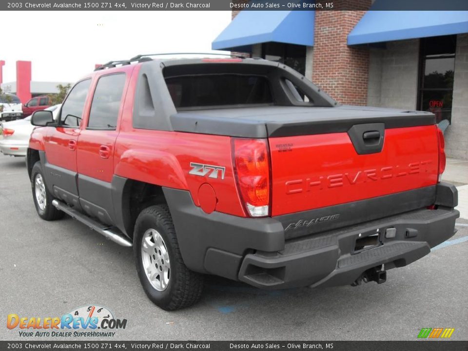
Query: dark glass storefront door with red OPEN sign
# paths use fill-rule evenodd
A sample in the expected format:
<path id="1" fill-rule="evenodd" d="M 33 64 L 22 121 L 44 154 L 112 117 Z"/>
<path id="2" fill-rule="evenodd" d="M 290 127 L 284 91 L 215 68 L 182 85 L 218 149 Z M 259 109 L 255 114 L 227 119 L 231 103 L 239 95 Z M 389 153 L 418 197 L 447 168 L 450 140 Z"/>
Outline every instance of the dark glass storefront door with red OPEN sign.
<path id="1" fill-rule="evenodd" d="M 450 121 L 456 36 L 421 39 L 418 109 Z"/>

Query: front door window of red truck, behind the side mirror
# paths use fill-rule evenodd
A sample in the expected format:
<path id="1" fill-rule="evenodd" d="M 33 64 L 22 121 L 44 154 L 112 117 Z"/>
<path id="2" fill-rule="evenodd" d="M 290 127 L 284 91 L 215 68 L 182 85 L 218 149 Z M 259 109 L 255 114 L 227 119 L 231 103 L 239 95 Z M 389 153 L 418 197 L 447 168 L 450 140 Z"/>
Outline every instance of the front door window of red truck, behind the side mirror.
<path id="1" fill-rule="evenodd" d="M 72 91 L 68 94 L 67 99 L 62 105 L 60 125 L 79 126 L 90 83 L 91 79 L 81 80 L 72 88 Z"/>

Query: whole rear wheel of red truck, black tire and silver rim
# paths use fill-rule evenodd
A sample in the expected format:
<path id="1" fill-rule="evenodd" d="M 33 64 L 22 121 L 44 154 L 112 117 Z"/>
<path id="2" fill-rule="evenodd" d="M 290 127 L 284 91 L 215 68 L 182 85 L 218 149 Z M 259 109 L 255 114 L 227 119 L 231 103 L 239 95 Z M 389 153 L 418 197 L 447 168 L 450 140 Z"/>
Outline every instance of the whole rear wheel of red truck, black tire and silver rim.
<path id="1" fill-rule="evenodd" d="M 166 205 L 150 206 L 138 215 L 134 250 L 141 285 L 157 306 L 174 311 L 199 300 L 203 276 L 185 266 Z"/>

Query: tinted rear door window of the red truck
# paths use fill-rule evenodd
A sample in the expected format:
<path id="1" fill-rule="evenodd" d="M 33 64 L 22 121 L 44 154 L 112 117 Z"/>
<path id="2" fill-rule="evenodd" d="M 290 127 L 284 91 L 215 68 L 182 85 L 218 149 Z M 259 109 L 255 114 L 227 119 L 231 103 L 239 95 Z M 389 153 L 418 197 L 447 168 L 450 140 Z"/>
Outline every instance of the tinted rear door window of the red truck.
<path id="1" fill-rule="evenodd" d="M 115 129 L 122 100 L 125 74 L 114 74 L 99 78 L 94 92 L 88 128 Z"/>

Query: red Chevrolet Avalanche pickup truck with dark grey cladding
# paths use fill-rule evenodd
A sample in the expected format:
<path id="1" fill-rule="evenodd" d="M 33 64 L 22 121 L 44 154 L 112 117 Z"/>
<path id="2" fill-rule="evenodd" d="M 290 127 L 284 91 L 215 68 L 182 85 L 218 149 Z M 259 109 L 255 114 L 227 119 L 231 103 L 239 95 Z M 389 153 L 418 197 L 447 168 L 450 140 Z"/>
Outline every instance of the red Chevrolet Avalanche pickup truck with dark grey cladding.
<path id="1" fill-rule="evenodd" d="M 39 216 L 133 246 L 148 297 L 195 303 L 203 274 L 258 288 L 386 280 L 454 234 L 428 112 L 343 106 L 262 59 L 110 62 L 27 152 Z"/>

